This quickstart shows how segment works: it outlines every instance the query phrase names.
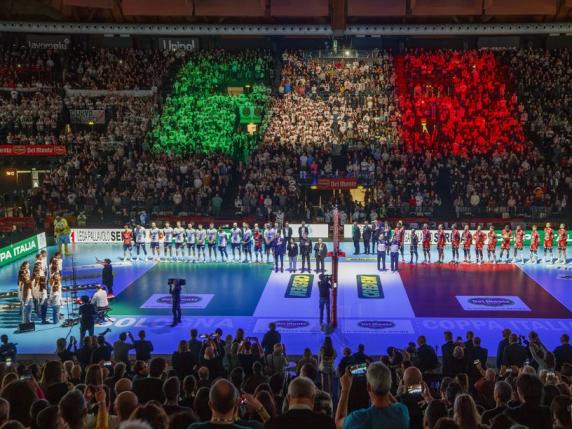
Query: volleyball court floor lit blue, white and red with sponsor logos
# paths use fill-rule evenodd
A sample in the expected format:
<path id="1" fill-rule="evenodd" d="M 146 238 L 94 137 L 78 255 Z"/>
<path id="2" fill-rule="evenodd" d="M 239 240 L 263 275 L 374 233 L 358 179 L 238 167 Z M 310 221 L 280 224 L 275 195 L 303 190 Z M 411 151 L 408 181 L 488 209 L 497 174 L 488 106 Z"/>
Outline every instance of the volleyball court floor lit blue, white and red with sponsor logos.
<path id="1" fill-rule="evenodd" d="M 364 343 L 368 353 L 379 355 L 390 345 L 405 347 L 419 335 L 440 345 L 445 330 L 455 336 L 473 330 L 494 354 L 505 327 L 522 334 L 535 330 L 549 348 L 558 345 L 561 333 L 572 331 L 570 260 L 566 266 L 405 263 L 392 273 L 378 271 L 372 256 L 352 256 L 351 243 L 342 243 L 342 249 L 348 256 L 340 262 L 338 327 L 331 334 L 337 350 Z M 54 250 L 49 248 L 49 254 Z M 64 286 L 71 284 L 72 265 L 77 284 L 94 284 L 101 273 L 96 257 L 113 261 L 112 321 L 96 326 L 96 333 L 112 329 L 110 341 L 123 331 L 145 329 L 155 352 L 169 354 L 179 340 L 189 338 L 191 328 L 205 334 L 221 328 L 224 335 L 234 335 L 240 327 L 247 335 L 261 336 L 269 322 L 276 322 L 289 354 L 301 354 L 305 347 L 317 352 L 323 342 L 315 273 L 275 273 L 270 264 L 124 262 L 119 244 L 76 244 L 73 254 L 73 264 L 72 258 L 64 261 Z M 405 256 L 408 261 L 407 250 Z M 0 292 L 16 289 L 20 263 L 0 269 Z M 326 270 L 330 268 L 327 260 Z M 169 278 L 186 279 L 183 323 L 176 328 L 170 327 Z M 21 354 L 53 353 L 57 338 L 79 335 L 78 326 L 41 325 L 35 315 L 35 332 L 15 334 L 19 309 L 5 306 L 15 300 L 0 302 L 0 331 L 18 343 Z"/>

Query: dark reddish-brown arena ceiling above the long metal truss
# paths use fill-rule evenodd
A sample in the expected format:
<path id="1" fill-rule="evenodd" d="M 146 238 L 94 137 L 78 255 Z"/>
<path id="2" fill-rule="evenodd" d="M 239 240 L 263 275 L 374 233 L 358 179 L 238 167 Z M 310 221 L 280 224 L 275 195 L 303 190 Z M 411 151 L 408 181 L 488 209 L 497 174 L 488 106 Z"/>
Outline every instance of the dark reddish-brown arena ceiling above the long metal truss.
<path id="1" fill-rule="evenodd" d="M 563 22 L 572 0 L 3 0 L 2 20 L 331 24 Z"/>

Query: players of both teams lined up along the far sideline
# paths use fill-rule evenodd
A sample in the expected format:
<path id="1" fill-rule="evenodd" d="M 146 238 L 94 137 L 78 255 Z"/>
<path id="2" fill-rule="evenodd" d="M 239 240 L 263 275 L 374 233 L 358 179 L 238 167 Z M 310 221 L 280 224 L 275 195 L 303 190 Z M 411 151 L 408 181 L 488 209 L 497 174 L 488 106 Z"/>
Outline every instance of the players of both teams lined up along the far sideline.
<path id="1" fill-rule="evenodd" d="M 311 247 L 310 239 L 308 238 L 308 227 L 302 223 L 298 228 L 298 237 L 300 239 L 300 248 Z M 544 261 L 547 263 L 554 262 L 553 247 L 555 238 L 558 244 L 557 262 L 566 264 L 566 245 L 567 245 L 567 231 L 564 224 L 560 225 L 557 231 L 547 223 L 544 228 L 544 241 L 543 252 Z M 193 223 L 189 223 L 187 228 L 184 228 L 181 222 L 177 222 L 175 228 L 172 228 L 169 222 L 165 223 L 165 227 L 160 229 L 155 223 L 151 224 L 149 230 L 151 241 L 152 257 L 160 260 L 160 240 L 163 240 L 163 253 L 167 259 L 182 260 L 185 258 L 185 248 L 187 248 L 188 260 L 192 261 L 207 261 L 206 249 L 208 248 L 209 261 L 217 260 L 217 250 L 220 254 L 222 261 L 229 260 L 227 246 L 230 243 L 232 260 L 241 261 L 242 254 L 244 260 L 242 262 L 263 262 L 263 254 L 266 255 L 266 262 L 270 262 L 270 256 L 275 253 L 276 248 L 279 249 L 279 254 L 283 254 L 283 247 L 291 242 L 293 237 L 292 228 L 288 222 L 283 227 L 278 224 L 265 224 L 261 230 L 258 224 L 254 224 L 254 228 L 250 229 L 247 223 L 243 224 L 240 228 L 237 223 L 234 223 L 229 232 L 220 226 L 218 229 L 214 223 L 209 225 L 209 228 L 203 228 L 203 225 L 194 227 Z M 497 244 L 498 238 L 493 226 L 490 226 L 488 232 L 483 231 L 482 226 L 478 225 L 476 231 L 472 232 L 469 225 L 465 225 L 464 230 L 459 230 L 457 225 L 454 224 L 450 233 L 450 245 L 453 253 L 452 263 L 460 262 L 459 249 L 463 248 L 463 262 L 471 262 L 471 249 L 474 247 L 477 263 L 484 263 L 484 249 L 487 250 L 487 262 L 497 262 Z M 511 242 L 514 240 L 514 248 L 512 255 L 512 262 L 516 262 L 520 256 L 521 262 L 524 263 L 524 235 L 525 232 L 521 226 L 517 226 L 513 232 L 509 225 L 506 225 L 501 232 L 500 239 L 500 260 L 506 258 L 506 262 L 511 261 Z M 131 260 L 133 246 L 137 250 L 137 258 L 147 259 L 146 237 L 147 230 L 141 226 L 136 225 L 134 230 L 131 230 L 128 225 L 121 233 L 123 241 L 123 252 L 126 260 Z M 353 225 L 352 238 L 354 241 L 354 254 L 359 254 L 360 238 L 363 237 L 365 245 L 365 253 L 369 254 L 370 249 L 372 253 L 379 254 L 385 252 L 392 242 L 399 245 L 401 259 L 404 260 L 404 242 L 405 242 L 405 227 L 400 221 L 397 223 L 395 229 L 391 230 L 389 225 L 383 224 L 381 221 L 376 221 L 372 225 L 365 224 L 359 227 L 357 223 Z M 410 254 L 411 263 L 418 262 L 418 246 L 421 241 L 423 249 L 423 263 L 431 263 L 431 245 L 432 236 L 429 226 L 423 225 L 420 234 L 415 229 L 411 230 L 410 238 Z M 439 225 L 436 233 L 436 246 L 438 253 L 438 263 L 445 262 L 445 247 L 447 244 L 447 237 L 443 225 Z M 254 261 L 253 252 L 254 247 Z M 536 225 L 533 225 L 530 237 L 530 259 L 529 262 L 537 263 L 540 261 L 538 250 L 540 247 L 540 235 Z M 173 252 L 173 248 L 175 252 Z M 310 250 L 311 252 L 311 250 Z M 237 259 L 238 257 L 238 259 Z"/>

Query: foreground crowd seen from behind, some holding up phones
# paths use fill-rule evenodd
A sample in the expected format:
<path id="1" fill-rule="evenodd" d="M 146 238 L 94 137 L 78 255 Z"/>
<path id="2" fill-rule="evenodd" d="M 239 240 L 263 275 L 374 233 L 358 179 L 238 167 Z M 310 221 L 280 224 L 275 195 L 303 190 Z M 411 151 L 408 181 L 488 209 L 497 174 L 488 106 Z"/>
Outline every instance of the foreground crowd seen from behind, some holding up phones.
<path id="1" fill-rule="evenodd" d="M 473 332 L 453 338 L 444 333 L 441 360 L 420 336 L 379 357 L 359 345 L 339 358 L 325 337 L 292 361 L 274 324 L 260 342 L 193 329 L 165 359 L 145 331 L 124 332 L 113 344 L 61 338 L 57 360 L 25 365 L 4 336 L 0 428 L 572 427 L 567 334 L 550 351 L 535 332 L 504 330 L 496 364 Z"/>

